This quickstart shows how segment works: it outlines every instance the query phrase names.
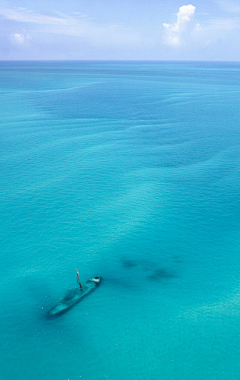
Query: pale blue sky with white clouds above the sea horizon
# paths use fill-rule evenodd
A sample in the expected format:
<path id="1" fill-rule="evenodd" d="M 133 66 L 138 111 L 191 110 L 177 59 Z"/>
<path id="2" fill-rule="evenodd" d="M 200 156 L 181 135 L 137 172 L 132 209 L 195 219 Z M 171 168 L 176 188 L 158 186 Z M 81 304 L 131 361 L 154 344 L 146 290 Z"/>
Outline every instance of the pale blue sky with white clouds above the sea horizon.
<path id="1" fill-rule="evenodd" d="M 240 0 L 3 0 L 16 59 L 240 61 Z"/>

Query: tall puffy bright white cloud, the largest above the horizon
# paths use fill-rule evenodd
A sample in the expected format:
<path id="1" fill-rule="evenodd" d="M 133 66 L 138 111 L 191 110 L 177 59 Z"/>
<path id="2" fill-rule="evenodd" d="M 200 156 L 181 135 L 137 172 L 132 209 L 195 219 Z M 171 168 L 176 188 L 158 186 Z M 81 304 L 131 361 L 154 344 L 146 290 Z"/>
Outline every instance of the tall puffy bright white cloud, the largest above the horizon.
<path id="1" fill-rule="evenodd" d="M 182 45 L 189 35 L 196 28 L 199 28 L 199 24 L 193 23 L 193 16 L 196 7 L 192 4 L 183 5 L 179 8 L 177 13 L 177 22 L 175 24 L 164 23 L 164 43 L 172 47 L 178 47 Z"/>

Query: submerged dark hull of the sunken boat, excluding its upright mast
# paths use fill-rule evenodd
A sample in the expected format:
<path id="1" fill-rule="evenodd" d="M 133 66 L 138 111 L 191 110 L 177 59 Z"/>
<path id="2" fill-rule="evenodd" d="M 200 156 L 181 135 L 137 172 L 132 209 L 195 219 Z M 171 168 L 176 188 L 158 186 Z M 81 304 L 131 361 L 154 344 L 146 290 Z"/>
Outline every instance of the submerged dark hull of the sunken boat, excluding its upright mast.
<path id="1" fill-rule="evenodd" d="M 99 276 L 93 277 L 88 280 L 80 289 L 71 289 L 66 296 L 52 309 L 49 310 L 48 317 L 57 317 L 66 313 L 73 306 L 82 301 L 83 298 L 92 293 L 100 284 L 101 278 Z"/>

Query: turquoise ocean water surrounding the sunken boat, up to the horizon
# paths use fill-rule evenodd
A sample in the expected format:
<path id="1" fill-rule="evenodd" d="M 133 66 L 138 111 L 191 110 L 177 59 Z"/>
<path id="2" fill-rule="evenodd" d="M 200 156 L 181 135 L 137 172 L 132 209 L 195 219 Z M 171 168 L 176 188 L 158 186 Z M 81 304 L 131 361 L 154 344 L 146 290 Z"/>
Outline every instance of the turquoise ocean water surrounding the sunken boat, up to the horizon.
<path id="1" fill-rule="evenodd" d="M 1 62 L 0 110 L 0 379 L 239 380 L 240 64 Z"/>

